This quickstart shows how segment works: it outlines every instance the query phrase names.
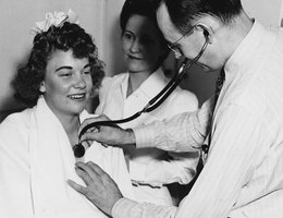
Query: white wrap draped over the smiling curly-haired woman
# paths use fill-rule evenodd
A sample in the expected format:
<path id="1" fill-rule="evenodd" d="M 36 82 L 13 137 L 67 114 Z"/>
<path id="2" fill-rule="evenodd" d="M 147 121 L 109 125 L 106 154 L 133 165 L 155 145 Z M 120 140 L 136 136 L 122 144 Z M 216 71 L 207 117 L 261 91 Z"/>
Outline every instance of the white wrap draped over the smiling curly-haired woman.
<path id="1" fill-rule="evenodd" d="M 121 149 L 94 143 L 85 159 L 100 165 L 133 197 Z M 67 135 L 44 98 L 33 109 L 8 117 L 0 125 L 1 217 L 107 217 L 66 183 L 84 184 L 75 162 Z"/>

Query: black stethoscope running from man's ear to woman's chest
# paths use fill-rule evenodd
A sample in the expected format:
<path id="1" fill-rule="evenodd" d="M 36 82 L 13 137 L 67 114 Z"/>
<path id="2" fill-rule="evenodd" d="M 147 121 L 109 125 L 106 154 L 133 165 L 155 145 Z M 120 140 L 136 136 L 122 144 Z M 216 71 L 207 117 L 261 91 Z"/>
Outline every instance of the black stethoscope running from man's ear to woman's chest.
<path id="1" fill-rule="evenodd" d="M 89 123 L 88 125 L 83 128 L 83 130 L 81 131 L 81 133 L 78 135 L 78 138 L 81 138 L 82 135 L 91 128 L 97 128 L 100 125 L 116 126 L 116 124 L 130 122 L 130 121 L 138 118 L 142 113 L 150 112 L 150 111 L 155 110 L 156 108 L 158 108 L 167 99 L 167 97 L 175 89 L 175 87 L 180 84 L 180 82 L 184 77 L 187 70 L 190 69 L 190 66 L 198 61 L 198 59 L 201 57 L 201 55 L 206 50 L 208 41 L 209 41 L 209 33 L 205 29 L 204 35 L 206 37 L 206 41 L 202 45 L 198 55 L 190 61 L 187 58 L 185 58 L 184 61 L 181 63 L 177 72 L 171 78 L 171 81 L 167 84 L 167 86 L 162 90 L 160 90 L 160 93 L 156 97 L 153 97 L 150 101 L 148 101 L 148 104 L 140 111 L 134 113 L 133 116 L 131 116 L 128 118 L 121 119 L 121 120 L 107 120 L 107 121 L 97 121 L 97 122 Z M 73 146 L 73 152 L 74 152 L 74 155 L 76 158 L 83 157 L 85 155 L 85 150 L 86 150 L 86 148 L 82 145 L 82 142 Z"/>

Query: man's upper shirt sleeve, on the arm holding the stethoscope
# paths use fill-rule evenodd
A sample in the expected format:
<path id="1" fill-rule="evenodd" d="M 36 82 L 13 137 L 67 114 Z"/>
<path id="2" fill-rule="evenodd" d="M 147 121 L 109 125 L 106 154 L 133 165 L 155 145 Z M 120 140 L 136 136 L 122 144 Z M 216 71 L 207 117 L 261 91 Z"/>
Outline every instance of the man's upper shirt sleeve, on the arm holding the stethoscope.
<path id="1" fill-rule="evenodd" d="M 175 153 L 198 152 L 205 142 L 211 117 L 211 99 L 195 112 L 133 128 L 136 147 L 157 147 Z"/>

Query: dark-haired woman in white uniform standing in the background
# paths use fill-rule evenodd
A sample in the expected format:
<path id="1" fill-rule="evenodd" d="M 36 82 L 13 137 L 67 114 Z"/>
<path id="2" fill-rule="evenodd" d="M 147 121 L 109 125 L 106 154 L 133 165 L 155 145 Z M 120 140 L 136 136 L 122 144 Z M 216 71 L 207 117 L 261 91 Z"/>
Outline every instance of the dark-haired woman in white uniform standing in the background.
<path id="1" fill-rule="evenodd" d="M 157 25 L 157 3 L 155 0 L 125 1 L 120 26 L 127 71 L 103 80 L 96 113 L 104 113 L 111 120 L 130 117 L 143 109 L 169 82 L 161 66 L 169 49 Z M 121 126 L 134 128 L 197 108 L 196 96 L 177 87 L 155 111 Z M 174 204 L 167 185 L 190 182 L 198 162 L 198 154 L 168 154 L 152 148 L 124 153 L 136 199 L 159 205 Z"/>

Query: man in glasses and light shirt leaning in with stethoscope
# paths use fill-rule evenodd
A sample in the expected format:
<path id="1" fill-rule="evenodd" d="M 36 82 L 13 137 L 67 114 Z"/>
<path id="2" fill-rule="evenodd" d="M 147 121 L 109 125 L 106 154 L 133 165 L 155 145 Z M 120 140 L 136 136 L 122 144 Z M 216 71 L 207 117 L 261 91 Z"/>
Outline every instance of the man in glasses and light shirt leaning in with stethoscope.
<path id="1" fill-rule="evenodd" d="M 110 177 L 93 164 L 77 165 L 86 187 L 70 184 L 114 218 L 282 217 L 282 32 L 267 31 L 248 17 L 239 0 L 162 0 L 157 19 L 170 47 L 189 59 L 208 35 L 198 64 L 225 72 L 212 119 L 208 101 L 197 113 L 132 130 L 101 126 L 82 140 L 188 152 L 200 149 L 209 136 L 200 175 L 177 208 L 124 198 Z M 97 120 L 87 120 L 83 126 Z"/>

